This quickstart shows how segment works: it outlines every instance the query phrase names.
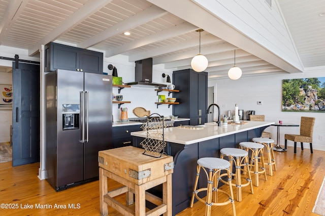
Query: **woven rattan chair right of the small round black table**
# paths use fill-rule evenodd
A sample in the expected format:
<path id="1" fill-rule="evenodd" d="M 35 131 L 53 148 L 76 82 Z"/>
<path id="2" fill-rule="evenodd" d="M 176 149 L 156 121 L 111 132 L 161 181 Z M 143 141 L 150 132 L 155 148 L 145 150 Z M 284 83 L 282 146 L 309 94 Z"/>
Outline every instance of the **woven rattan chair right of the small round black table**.
<path id="1" fill-rule="evenodd" d="M 284 135 L 284 148 L 286 149 L 287 140 L 295 142 L 294 153 L 297 153 L 297 142 L 300 142 L 301 150 L 304 150 L 303 143 L 310 144 L 310 153 L 313 153 L 313 129 L 314 129 L 315 118 L 314 117 L 301 117 L 300 120 L 300 134 L 285 134 Z"/>

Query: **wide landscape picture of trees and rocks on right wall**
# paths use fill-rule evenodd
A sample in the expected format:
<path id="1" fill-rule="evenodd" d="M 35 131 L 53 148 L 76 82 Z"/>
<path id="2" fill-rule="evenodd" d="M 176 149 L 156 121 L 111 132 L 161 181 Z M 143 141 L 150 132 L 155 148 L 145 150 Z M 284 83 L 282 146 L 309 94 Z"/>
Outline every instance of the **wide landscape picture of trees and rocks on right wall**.
<path id="1" fill-rule="evenodd" d="M 325 77 L 283 79 L 282 111 L 325 112 Z"/>

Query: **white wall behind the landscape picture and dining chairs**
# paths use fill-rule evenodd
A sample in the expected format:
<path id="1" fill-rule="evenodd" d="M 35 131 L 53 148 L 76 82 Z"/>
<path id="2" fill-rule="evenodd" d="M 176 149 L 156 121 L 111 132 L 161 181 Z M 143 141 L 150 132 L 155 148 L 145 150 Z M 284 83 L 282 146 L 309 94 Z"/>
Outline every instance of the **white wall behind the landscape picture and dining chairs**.
<path id="1" fill-rule="evenodd" d="M 227 114 L 228 110 L 234 112 L 235 104 L 239 109 L 243 109 L 246 117 L 247 110 L 255 110 L 255 114 L 264 114 L 266 121 L 297 123 L 300 124 L 301 116 L 315 117 L 313 132 L 313 148 L 325 151 L 325 140 L 319 140 L 319 136 L 324 137 L 325 113 L 313 112 L 282 112 L 282 79 L 323 77 L 323 70 L 309 71 L 301 74 L 265 75 L 241 77 L 238 80 L 217 79 L 209 80 L 209 87 L 215 87 L 215 101 L 220 106 L 221 114 Z M 262 101 L 263 105 L 257 105 L 257 101 Z M 276 127 L 270 126 L 265 131 L 272 133 L 272 139 L 276 140 Z M 284 146 L 284 134 L 299 134 L 300 127 L 280 127 L 280 145 Z M 288 146 L 294 143 L 288 141 Z M 304 147 L 309 148 L 305 144 Z"/>

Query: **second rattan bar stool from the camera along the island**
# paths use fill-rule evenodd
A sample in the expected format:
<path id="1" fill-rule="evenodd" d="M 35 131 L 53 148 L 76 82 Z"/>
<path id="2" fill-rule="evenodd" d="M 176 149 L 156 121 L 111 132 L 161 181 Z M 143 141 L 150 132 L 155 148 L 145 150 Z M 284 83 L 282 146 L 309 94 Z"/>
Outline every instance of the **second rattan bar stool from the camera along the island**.
<path id="1" fill-rule="evenodd" d="M 243 150 L 243 149 L 237 149 L 237 148 L 223 148 L 220 150 L 221 156 L 220 158 L 223 159 L 224 156 L 229 157 L 229 162 L 230 162 L 230 172 L 233 172 L 233 163 L 235 163 L 235 174 L 233 176 L 236 177 L 236 184 L 232 183 L 232 186 L 236 186 L 237 188 L 237 201 L 241 202 L 242 201 L 242 187 L 246 187 L 250 185 L 250 191 L 253 194 L 253 185 L 252 185 L 252 178 L 250 177 L 250 166 L 249 166 L 249 159 L 248 159 L 248 152 Z M 234 160 L 235 158 L 235 160 Z M 241 175 L 241 170 L 245 171 L 242 169 L 242 166 L 247 167 L 247 174 L 248 178 L 245 180 L 247 181 L 246 184 L 242 185 L 242 175 Z M 221 177 L 227 175 L 226 173 L 220 175 L 220 181 L 223 182 L 224 184 L 228 184 L 228 182 L 224 181 Z"/>

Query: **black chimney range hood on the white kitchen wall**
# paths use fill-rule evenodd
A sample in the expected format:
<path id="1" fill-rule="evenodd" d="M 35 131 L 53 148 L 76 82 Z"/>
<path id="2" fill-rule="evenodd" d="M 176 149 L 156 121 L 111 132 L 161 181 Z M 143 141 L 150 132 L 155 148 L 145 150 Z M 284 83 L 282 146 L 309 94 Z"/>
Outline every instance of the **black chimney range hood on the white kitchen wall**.
<path id="1" fill-rule="evenodd" d="M 152 82 L 152 58 L 136 61 L 134 82 L 128 82 L 127 85 L 136 85 L 141 87 L 167 87 L 166 84 Z"/>

